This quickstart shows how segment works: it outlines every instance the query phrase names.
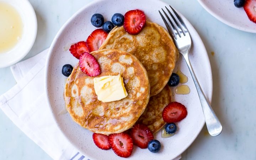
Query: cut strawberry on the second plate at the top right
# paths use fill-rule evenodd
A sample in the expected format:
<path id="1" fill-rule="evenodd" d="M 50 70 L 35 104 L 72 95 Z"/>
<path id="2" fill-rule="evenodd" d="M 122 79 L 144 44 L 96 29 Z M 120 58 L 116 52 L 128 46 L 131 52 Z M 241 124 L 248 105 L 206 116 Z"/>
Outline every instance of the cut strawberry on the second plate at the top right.
<path id="1" fill-rule="evenodd" d="M 256 0 L 246 0 L 244 4 L 244 10 L 248 18 L 256 23 Z"/>

